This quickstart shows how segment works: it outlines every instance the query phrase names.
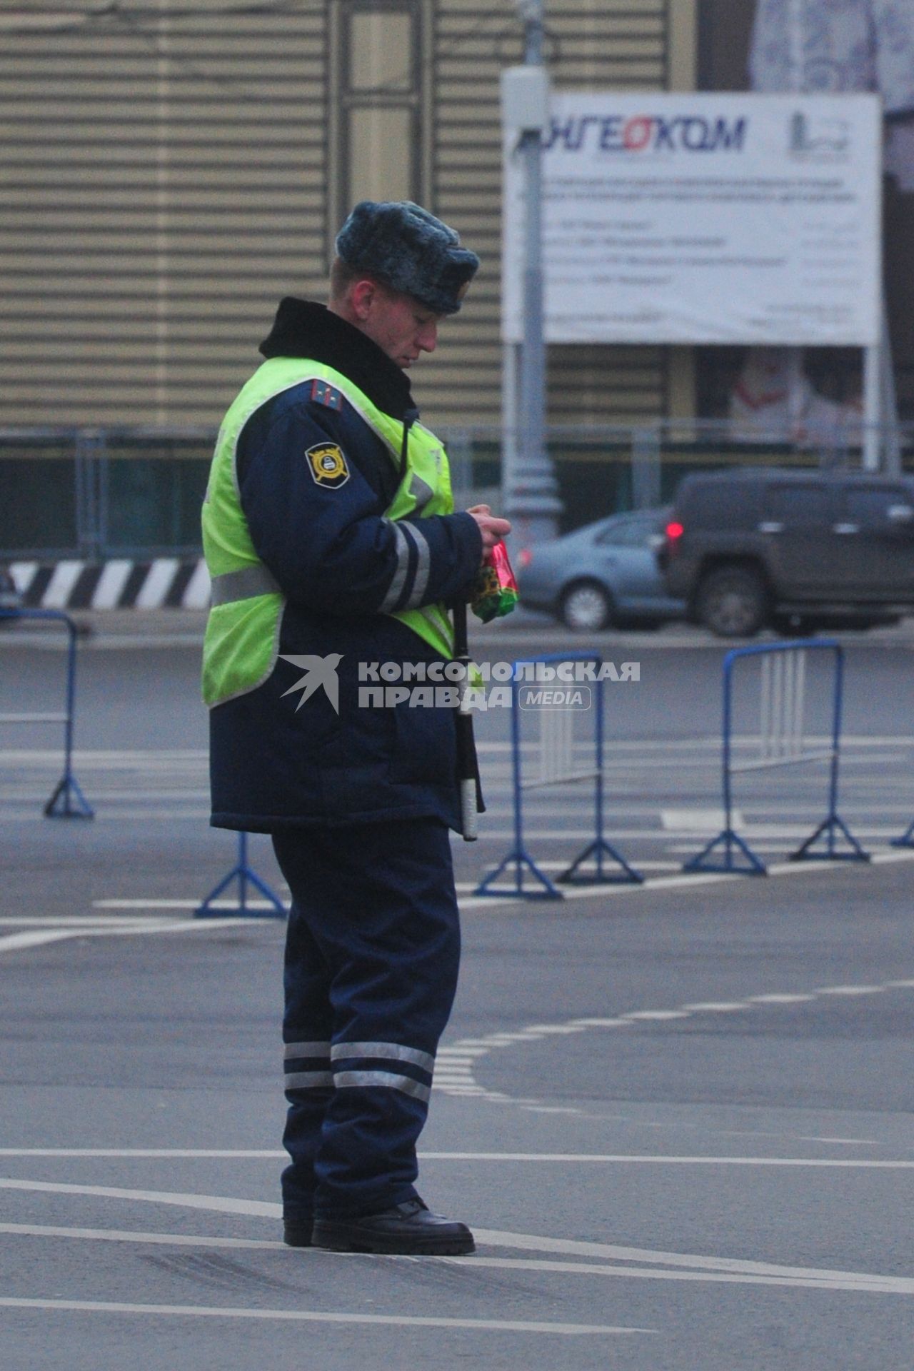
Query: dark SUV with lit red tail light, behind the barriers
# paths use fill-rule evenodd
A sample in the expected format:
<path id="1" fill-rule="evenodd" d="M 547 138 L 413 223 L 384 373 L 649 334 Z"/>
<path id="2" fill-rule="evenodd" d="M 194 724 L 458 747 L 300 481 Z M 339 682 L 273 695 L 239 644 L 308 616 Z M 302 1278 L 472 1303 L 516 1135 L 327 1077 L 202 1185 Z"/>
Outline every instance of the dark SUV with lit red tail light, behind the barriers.
<path id="1" fill-rule="evenodd" d="M 891 622 L 914 606 L 914 478 L 777 468 L 687 476 L 658 559 L 670 595 L 721 636 Z"/>

